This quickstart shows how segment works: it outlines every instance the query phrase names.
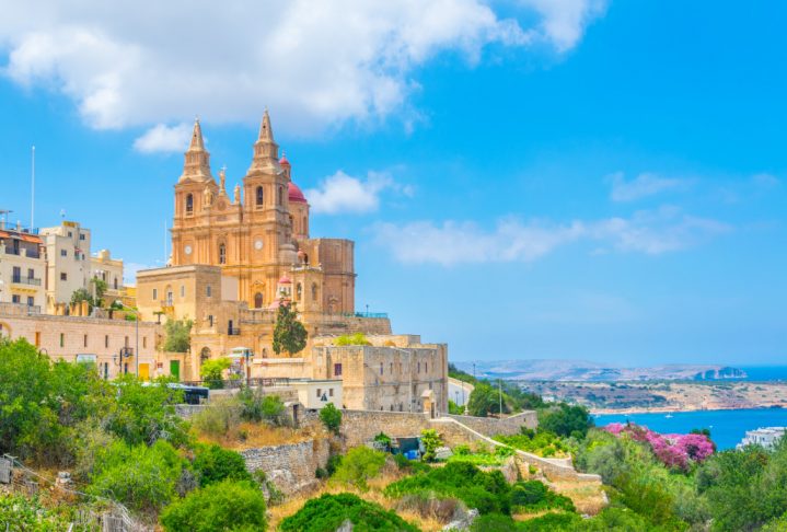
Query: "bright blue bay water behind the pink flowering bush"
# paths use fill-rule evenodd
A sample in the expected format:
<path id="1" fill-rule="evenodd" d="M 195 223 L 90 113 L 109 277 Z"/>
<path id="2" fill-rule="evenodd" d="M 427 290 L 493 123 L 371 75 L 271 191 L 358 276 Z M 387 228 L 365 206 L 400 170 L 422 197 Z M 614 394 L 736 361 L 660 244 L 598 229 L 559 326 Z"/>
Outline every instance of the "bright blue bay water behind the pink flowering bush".
<path id="1" fill-rule="evenodd" d="M 710 439 L 719 450 L 726 450 L 733 449 L 740 443 L 747 430 L 760 427 L 787 427 L 787 408 L 601 414 L 594 416 L 594 420 L 599 427 L 611 423 L 630 421 L 661 433 L 686 433 L 694 428 L 709 428 Z"/>

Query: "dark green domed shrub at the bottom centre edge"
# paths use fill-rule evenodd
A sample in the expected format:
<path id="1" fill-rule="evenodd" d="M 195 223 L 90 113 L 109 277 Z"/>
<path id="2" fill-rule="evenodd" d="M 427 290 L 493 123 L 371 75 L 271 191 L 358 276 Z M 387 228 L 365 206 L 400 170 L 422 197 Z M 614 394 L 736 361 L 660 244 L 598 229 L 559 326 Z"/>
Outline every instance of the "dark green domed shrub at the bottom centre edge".
<path id="1" fill-rule="evenodd" d="M 346 520 L 355 532 L 417 532 L 418 529 L 385 510 L 352 494 L 323 495 L 310 499 L 303 508 L 279 525 L 281 532 L 325 532 L 338 529 Z"/>

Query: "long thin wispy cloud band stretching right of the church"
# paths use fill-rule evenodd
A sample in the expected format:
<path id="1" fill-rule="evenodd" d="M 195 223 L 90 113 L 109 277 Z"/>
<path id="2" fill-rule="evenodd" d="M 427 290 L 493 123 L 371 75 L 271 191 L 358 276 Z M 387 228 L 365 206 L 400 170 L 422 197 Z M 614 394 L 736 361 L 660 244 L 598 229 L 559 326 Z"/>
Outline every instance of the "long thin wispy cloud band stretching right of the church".
<path id="1" fill-rule="evenodd" d="M 464 263 L 532 262 L 575 242 L 591 242 L 598 252 L 618 251 L 660 255 L 699 243 L 729 231 L 725 223 L 682 213 L 664 207 L 639 211 L 630 218 L 570 223 L 530 221 L 514 218 L 499 221 L 493 230 L 474 222 L 418 221 L 404 225 L 375 225 L 375 241 L 389 247 L 403 263 L 435 263 L 443 266 Z"/>

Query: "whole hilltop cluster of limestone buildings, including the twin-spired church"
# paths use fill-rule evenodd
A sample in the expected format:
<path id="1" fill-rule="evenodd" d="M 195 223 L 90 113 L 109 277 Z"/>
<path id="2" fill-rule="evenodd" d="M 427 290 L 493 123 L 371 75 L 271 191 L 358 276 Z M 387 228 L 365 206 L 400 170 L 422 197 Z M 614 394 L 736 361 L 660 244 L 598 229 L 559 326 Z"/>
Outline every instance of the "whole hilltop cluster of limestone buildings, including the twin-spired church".
<path id="1" fill-rule="evenodd" d="M 206 362 L 230 358 L 224 378 L 342 389 L 348 408 L 448 412 L 447 345 L 394 335 L 387 315 L 356 312 L 354 242 L 311 236 L 292 172 L 266 111 L 242 185 L 228 192 L 196 120 L 173 178 L 172 256 L 139 271 L 136 286 L 124 286 L 123 261 L 111 252 L 91 254 L 91 232 L 77 222 L 4 223 L 0 335 L 26 338 L 54 359 L 93 362 L 104 379 L 201 384 Z M 308 333 L 298 352 L 273 346 L 282 304 Z M 188 323 L 187 349 L 166 350 L 167 321 Z M 335 345 L 359 334 L 367 345 Z"/>

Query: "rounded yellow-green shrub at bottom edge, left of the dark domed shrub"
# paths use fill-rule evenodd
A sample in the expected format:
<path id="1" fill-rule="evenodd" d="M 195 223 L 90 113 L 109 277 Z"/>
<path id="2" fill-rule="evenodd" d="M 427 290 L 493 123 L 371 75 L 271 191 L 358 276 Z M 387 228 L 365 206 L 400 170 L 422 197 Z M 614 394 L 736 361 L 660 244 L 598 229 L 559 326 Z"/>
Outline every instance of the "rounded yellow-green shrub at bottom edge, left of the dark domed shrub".
<path id="1" fill-rule="evenodd" d="M 264 531 L 265 497 L 253 483 L 222 481 L 170 505 L 161 524 L 167 532 Z"/>

